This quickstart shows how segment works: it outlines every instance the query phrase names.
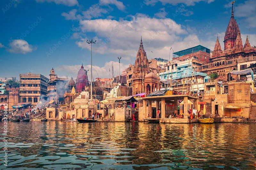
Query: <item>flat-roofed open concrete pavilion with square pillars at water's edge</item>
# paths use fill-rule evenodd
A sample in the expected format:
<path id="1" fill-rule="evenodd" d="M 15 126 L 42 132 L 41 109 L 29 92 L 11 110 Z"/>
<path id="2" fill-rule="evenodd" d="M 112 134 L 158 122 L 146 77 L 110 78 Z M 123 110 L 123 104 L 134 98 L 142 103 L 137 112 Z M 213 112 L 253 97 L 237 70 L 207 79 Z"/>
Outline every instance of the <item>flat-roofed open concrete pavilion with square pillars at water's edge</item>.
<path id="1" fill-rule="evenodd" d="M 183 109 L 184 111 L 184 119 L 169 119 L 166 117 L 166 103 L 174 103 L 174 113 L 178 114 L 178 100 L 183 100 L 184 105 L 183 108 L 188 108 L 188 100 L 194 101 L 194 109 L 198 110 L 198 97 L 191 95 L 164 95 L 164 96 L 152 96 L 145 97 L 143 100 L 143 110 L 139 113 L 139 120 L 143 120 L 147 118 L 147 115 L 152 117 L 152 101 L 156 101 L 156 110 L 160 109 L 160 101 L 161 101 L 161 118 L 160 122 L 162 123 L 192 123 L 196 122 L 196 119 L 190 119 L 188 115 L 188 109 Z M 147 107 L 148 100 L 148 107 Z"/>

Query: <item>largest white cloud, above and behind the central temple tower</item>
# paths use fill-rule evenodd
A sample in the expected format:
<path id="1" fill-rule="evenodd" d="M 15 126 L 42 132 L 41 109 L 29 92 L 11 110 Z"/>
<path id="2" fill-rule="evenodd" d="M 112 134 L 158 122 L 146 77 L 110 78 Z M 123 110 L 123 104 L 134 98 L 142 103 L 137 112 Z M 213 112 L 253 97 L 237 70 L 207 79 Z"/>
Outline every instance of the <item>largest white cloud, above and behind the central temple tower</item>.
<path id="1" fill-rule="evenodd" d="M 187 34 L 181 25 L 170 18 L 157 19 L 145 15 L 132 16 L 130 20 L 95 19 L 80 21 L 80 28 L 85 33 L 96 33 L 93 40 L 93 51 L 99 54 L 118 54 L 136 57 L 142 36 L 144 48 L 162 49 L 165 45 L 178 41 L 179 34 Z M 85 38 L 76 41 L 76 44 L 90 49 Z M 149 52 L 149 50 L 148 50 Z M 168 51 L 169 52 L 169 51 Z M 169 54 L 169 53 L 168 53 Z"/>

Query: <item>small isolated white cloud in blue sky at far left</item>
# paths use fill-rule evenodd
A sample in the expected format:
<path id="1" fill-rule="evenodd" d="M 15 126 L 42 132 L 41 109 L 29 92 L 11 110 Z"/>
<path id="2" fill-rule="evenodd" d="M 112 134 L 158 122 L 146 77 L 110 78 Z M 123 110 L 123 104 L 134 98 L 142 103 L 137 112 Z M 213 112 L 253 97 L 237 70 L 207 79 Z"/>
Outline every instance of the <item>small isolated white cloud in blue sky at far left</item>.
<path id="1" fill-rule="evenodd" d="M 33 50 L 36 50 L 37 47 L 33 47 L 32 45 L 29 45 L 27 41 L 25 40 L 12 40 L 8 44 L 9 48 L 7 51 L 10 53 L 21 53 L 26 54 L 30 53 Z"/>

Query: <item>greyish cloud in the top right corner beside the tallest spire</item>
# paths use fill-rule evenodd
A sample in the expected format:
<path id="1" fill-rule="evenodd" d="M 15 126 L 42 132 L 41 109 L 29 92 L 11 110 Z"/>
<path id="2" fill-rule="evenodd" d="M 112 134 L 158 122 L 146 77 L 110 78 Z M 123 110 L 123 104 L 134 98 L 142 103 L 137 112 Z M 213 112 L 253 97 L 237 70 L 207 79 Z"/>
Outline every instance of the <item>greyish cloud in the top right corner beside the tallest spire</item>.
<path id="1" fill-rule="evenodd" d="M 235 15 L 244 18 L 248 27 L 256 27 L 256 2 L 255 0 L 244 1 L 235 8 Z"/>

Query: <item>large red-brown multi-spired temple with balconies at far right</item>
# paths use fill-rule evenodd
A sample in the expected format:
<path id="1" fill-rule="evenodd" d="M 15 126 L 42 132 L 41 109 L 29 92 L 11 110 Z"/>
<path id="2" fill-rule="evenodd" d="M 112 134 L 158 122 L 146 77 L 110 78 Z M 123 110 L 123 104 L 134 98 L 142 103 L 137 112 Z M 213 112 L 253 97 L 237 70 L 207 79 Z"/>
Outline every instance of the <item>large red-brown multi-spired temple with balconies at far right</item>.
<path id="1" fill-rule="evenodd" d="M 217 73 L 219 81 L 229 81 L 230 71 L 244 70 L 256 62 L 256 48 L 251 47 L 248 37 L 243 45 L 240 28 L 234 18 L 233 4 L 223 42 L 224 50 L 222 50 L 219 37 L 217 37 L 210 63 L 203 64 L 199 71 L 208 75 Z M 233 78 L 236 79 L 235 75 Z"/>

